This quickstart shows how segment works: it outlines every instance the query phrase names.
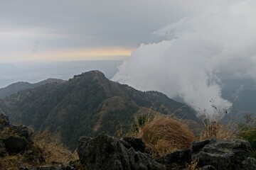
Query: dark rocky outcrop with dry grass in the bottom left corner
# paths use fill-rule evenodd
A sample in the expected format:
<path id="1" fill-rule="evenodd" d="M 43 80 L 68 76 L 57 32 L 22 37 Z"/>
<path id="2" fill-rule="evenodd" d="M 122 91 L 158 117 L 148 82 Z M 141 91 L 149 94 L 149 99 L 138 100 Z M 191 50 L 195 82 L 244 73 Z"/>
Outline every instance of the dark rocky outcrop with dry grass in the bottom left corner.
<path id="1" fill-rule="evenodd" d="M 18 162 L 18 169 L 21 170 L 28 170 L 28 164 L 23 161 L 29 162 L 29 167 L 45 162 L 41 149 L 33 145 L 32 134 L 33 132 L 26 126 L 10 125 L 9 118 L 0 113 L 0 157 L 3 160 L 9 159 L 6 157 L 14 157 L 12 161 L 17 163 L 16 159 L 22 155 L 23 159 Z M 0 164 L 0 169 L 6 169 L 6 166 L 9 166 L 8 161 L 4 162 L 4 165 Z M 12 168 L 14 167 L 11 166 Z"/>

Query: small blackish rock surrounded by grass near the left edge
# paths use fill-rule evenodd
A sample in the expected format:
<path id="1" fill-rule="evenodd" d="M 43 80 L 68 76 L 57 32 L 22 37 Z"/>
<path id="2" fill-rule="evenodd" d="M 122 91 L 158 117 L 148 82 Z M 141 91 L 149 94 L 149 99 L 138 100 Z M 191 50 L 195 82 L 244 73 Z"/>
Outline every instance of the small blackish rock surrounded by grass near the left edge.
<path id="1" fill-rule="evenodd" d="M 28 145 L 28 140 L 23 137 L 10 136 L 3 140 L 6 150 L 9 154 L 23 152 Z"/>

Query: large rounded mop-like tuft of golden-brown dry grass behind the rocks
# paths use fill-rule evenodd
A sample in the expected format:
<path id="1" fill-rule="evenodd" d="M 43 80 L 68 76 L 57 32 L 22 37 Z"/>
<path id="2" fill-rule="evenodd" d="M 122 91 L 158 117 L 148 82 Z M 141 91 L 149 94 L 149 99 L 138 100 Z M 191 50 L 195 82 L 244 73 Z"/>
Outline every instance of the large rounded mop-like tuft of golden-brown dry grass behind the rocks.
<path id="1" fill-rule="evenodd" d="M 156 115 L 153 120 L 146 122 L 141 128 L 141 134 L 153 156 L 189 148 L 196 139 L 188 126 L 164 115 Z"/>

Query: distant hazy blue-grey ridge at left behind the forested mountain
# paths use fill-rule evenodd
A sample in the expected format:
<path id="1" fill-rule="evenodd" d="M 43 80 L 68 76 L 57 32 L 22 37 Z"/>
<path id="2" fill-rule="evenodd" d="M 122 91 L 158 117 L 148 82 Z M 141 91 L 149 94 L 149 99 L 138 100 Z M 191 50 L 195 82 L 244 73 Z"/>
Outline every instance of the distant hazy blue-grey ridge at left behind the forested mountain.
<path id="1" fill-rule="evenodd" d="M 6 96 L 9 96 L 11 94 L 16 94 L 18 91 L 22 91 L 25 89 L 32 89 L 35 88 L 37 86 L 41 86 L 43 84 L 48 84 L 48 83 L 60 83 L 60 82 L 64 82 L 64 80 L 62 79 L 46 79 L 43 81 L 40 81 L 36 84 L 31 84 L 28 82 L 23 82 L 23 81 L 19 81 L 16 82 L 14 84 L 10 84 L 9 86 L 6 86 L 4 88 L 0 89 L 0 98 L 4 98 Z"/>

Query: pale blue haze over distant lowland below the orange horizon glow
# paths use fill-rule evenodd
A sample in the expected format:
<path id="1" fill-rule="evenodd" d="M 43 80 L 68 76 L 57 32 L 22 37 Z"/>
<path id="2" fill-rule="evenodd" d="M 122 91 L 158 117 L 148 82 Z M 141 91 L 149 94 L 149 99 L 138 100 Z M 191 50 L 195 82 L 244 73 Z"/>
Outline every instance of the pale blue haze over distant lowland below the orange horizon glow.
<path id="1" fill-rule="evenodd" d="M 49 78 L 68 80 L 74 75 L 95 69 L 103 72 L 108 79 L 111 79 L 117 72 L 117 66 L 121 63 L 120 60 L 0 63 L 0 88 L 17 81 L 37 83 Z"/>

